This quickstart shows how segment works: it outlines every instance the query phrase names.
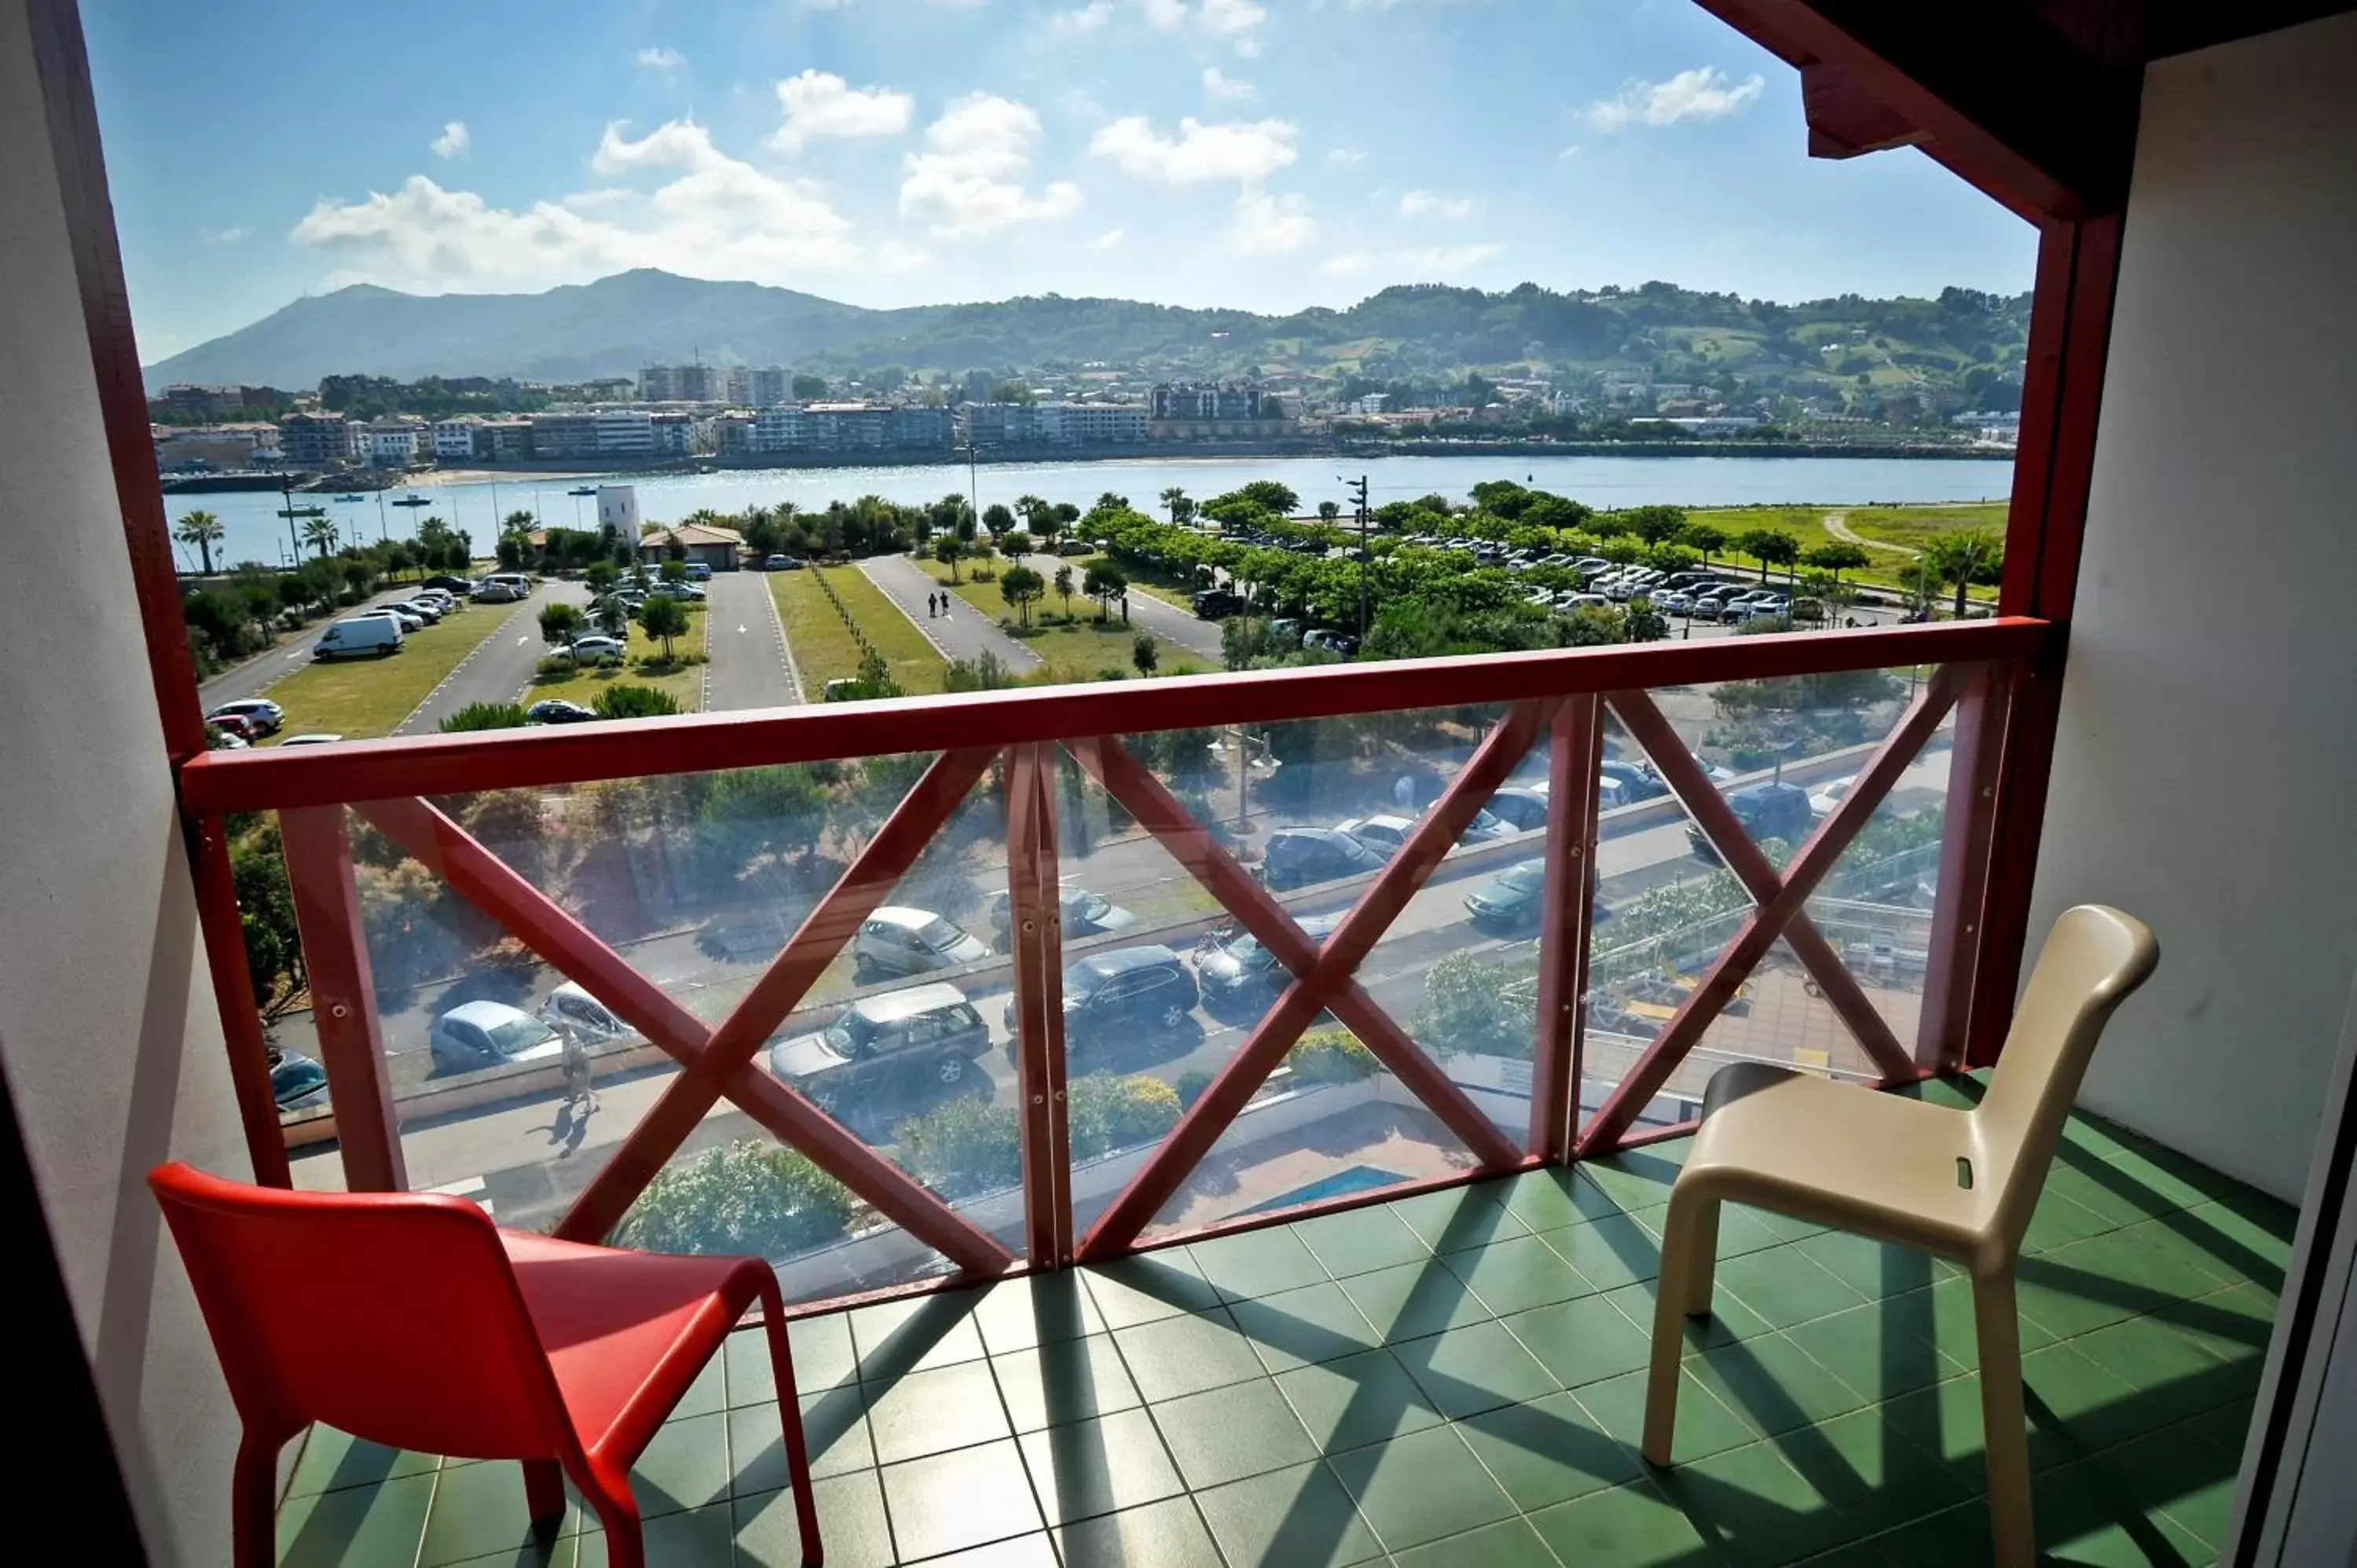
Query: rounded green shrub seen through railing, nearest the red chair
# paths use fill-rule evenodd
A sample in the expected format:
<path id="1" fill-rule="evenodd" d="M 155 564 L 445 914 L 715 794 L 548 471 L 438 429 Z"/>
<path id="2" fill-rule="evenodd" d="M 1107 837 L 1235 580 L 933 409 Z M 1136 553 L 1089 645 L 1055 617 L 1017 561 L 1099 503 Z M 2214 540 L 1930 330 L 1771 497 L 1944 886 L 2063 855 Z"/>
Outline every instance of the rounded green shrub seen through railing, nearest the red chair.
<path id="1" fill-rule="evenodd" d="M 851 1193 L 792 1148 L 742 1141 L 667 1165 L 615 1240 L 646 1252 L 787 1257 L 844 1233 Z"/>

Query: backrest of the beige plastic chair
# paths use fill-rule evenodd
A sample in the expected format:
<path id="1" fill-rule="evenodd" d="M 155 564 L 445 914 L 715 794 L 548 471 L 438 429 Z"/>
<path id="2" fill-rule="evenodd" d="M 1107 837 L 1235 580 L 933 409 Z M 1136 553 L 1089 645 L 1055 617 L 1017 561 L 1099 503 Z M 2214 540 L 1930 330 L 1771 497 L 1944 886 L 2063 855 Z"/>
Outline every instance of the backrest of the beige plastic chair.
<path id="1" fill-rule="evenodd" d="M 2143 920 L 2100 903 L 2062 910 L 2013 1014 L 1989 1092 L 1973 1111 L 1982 1170 L 1999 1188 L 1999 1231 L 2020 1243 L 2046 1186 L 2046 1167 L 2105 1023 L 2159 962 Z"/>

